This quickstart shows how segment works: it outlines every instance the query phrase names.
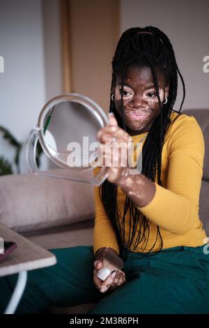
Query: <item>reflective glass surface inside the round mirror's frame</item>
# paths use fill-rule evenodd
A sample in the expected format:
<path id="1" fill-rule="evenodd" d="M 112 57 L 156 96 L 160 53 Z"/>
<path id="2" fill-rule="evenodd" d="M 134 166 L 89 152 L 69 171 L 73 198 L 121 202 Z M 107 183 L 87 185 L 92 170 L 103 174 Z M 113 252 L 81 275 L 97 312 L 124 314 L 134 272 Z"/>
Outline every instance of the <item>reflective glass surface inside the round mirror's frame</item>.
<path id="1" fill-rule="evenodd" d="M 95 160 L 100 128 L 100 117 L 81 103 L 59 103 L 45 118 L 43 139 L 52 157 L 68 167 L 86 167 Z"/>

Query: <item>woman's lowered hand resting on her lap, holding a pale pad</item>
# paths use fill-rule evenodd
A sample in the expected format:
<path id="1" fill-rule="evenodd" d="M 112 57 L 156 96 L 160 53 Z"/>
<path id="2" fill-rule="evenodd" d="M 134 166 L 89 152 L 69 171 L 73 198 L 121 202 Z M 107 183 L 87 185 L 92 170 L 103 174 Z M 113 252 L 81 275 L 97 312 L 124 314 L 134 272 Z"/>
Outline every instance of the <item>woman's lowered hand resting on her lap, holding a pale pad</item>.
<path id="1" fill-rule="evenodd" d="M 104 281 L 98 278 L 96 272 L 100 270 L 103 265 L 102 258 L 95 260 L 93 265 L 94 265 L 93 282 L 95 284 L 95 287 L 98 288 L 100 292 L 107 292 L 107 290 L 112 290 L 125 283 L 126 281 L 125 272 L 118 269 L 116 269 L 116 271 L 114 271 L 112 274 L 109 274 L 109 276 Z"/>

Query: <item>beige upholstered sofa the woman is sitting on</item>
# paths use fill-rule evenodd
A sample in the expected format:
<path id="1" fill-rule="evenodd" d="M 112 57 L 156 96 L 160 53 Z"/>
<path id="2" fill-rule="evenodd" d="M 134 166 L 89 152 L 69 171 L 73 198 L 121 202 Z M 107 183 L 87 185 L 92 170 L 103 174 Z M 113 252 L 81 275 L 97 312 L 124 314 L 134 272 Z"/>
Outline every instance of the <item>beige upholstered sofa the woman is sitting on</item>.
<path id="1" fill-rule="evenodd" d="M 199 215 L 209 236 L 209 110 L 185 110 L 203 131 L 206 153 Z M 191 131 L 192 133 L 192 131 Z M 62 169 L 58 169 L 62 170 Z M 89 177 L 90 172 L 86 172 Z M 0 223 L 43 248 L 93 245 L 93 186 L 38 174 L 0 177 Z M 49 308 L 48 313 L 87 313 L 95 304 Z"/>

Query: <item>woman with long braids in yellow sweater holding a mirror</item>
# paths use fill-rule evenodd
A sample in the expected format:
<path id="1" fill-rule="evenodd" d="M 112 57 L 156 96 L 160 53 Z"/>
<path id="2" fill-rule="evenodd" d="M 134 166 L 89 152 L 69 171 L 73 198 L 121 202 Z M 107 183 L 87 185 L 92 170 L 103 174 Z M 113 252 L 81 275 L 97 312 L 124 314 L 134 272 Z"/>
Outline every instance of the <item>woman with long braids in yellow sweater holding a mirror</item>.
<path id="1" fill-rule="evenodd" d="M 51 250 L 58 264 L 29 271 L 17 312 L 97 302 L 89 313 L 209 313 L 209 256 L 199 218 L 204 141 L 196 119 L 180 113 L 183 101 L 178 112 L 173 108 L 180 75 L 173 47 L 160 29 L 128 29 L 112 68 L 112 114 L 98 132 L 100 154 L 111 165 L 95 187 L 93 247 Z M 115 156 L 121 142 L 129 151 L 131 140 L 138 161 L 143 147 L 139 174 L 121 165 L 120 152 Z M 104 253 L 124 267 L 102 281 Z M 1 279 L 2 311 L 15 281 Z"/>

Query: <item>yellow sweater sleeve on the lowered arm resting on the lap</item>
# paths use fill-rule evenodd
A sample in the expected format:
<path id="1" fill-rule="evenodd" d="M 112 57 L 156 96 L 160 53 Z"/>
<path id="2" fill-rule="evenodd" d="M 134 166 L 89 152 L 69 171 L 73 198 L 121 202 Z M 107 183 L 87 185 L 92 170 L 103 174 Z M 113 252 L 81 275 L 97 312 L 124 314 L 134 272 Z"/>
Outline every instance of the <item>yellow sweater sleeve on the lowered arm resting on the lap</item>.
<path id="1" fill-rule="evenodd" d="M 93 230 L 93 252 L 95 254 L 99 248 L 111 247 L 117 252 L 117 254 L 119 254 L 116 234 L 100 200 L 98 186 L 94 187 L 94 199 L 95 224 Z"/>

